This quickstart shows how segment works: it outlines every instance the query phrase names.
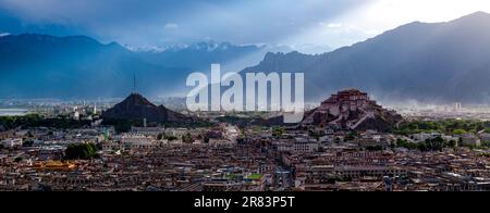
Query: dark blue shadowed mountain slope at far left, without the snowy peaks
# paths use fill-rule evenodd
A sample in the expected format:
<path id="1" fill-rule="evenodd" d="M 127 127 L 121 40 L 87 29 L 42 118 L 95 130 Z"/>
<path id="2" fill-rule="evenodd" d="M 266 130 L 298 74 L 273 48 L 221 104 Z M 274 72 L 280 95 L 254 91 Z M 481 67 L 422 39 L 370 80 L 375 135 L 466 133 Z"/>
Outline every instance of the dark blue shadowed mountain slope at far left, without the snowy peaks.
<path id="1" fill-rule="evenodd" d="M 171 70 L 145 63 L 117 43 L 87 37 L 20 35 L 0 38 L 0 96 L 81 98 L 124 96 L 138 72 L 142 90 L 158 88 Z"/>

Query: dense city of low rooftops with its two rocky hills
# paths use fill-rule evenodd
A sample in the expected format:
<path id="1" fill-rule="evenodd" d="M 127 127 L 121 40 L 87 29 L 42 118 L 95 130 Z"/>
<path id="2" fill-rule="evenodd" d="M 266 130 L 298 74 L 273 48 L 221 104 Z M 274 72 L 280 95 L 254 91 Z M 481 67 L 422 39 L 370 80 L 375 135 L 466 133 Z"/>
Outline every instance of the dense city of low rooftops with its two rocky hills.
<path id="1" fill-rule="evenodd" d="M 0 190 L 490 190 L 489 122 L 402 116 L 357 89 L 332 95 L 295 125 L 118 111 L 142 104 L 152 105 L 133 93 L 113 108 L 81 102 L 2 116 Z M 109 114 L 133 120 L 108 123 Z"/>

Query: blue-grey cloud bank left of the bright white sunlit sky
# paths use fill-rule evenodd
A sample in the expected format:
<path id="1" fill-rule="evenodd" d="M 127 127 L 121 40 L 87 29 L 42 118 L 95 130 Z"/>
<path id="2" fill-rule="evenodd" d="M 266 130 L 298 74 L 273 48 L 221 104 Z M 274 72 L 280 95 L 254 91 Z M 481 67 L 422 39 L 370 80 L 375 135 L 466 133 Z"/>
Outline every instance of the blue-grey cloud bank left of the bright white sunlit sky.
<path id="1" fill-rule="evenodd" d="M 369 0 L 0 0 L 0 33 L 85 34 L 135 46 L 275 42 Z"/>

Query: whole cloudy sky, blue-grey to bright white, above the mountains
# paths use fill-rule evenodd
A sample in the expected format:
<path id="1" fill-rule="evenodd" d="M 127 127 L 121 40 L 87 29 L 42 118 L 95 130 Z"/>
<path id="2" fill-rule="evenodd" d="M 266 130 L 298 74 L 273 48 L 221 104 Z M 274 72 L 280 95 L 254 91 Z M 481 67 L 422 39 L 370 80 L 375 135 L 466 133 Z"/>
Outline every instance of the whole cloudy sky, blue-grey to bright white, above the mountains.
<path id="1" fill-rule="evenodd" d="M 133 47 L 203 40 L 338 48 L 488 0 L 0 0 L 0 35 L 87 35 Z"/>

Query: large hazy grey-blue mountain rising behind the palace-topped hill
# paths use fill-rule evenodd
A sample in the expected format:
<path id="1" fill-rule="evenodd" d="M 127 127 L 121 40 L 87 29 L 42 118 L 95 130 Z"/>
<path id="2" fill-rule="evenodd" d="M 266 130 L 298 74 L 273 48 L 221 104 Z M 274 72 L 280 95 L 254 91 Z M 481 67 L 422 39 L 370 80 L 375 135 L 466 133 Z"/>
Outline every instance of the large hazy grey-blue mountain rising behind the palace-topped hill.
<path id="1" fill-rule="evenodd" d="M 490 14 L 414 22 L 320 55 L 269 53 L 244 72 L 303 72 L 307 100 L 360 88 L 379 100 L 490 101 Z"/>

